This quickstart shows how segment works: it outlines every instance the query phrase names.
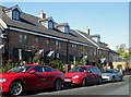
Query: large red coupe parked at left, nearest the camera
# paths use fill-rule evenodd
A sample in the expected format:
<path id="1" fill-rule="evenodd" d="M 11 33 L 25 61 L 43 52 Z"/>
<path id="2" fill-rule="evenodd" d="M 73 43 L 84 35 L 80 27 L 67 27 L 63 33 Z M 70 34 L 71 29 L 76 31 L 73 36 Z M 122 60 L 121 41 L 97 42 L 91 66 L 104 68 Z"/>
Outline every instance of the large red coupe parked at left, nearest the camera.
<path id="1" fill-rule="evenodd" d="M 64 82 L 63 73 L 40 64 L 15 66 L 0 74 L 0 93 L 20 95 L 24 90 L 53 87 L 61 89 Z"/>

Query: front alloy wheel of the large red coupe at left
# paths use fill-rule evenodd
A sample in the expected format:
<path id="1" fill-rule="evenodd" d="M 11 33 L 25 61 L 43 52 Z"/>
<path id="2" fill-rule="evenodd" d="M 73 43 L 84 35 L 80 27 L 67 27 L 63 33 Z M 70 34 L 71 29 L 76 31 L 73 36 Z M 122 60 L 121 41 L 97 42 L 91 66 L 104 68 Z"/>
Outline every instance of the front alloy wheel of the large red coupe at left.
<path id="1" fill-rule="evenodd" d="M 9 87 L 9 93 L 13 96 L 21 95 L 23 92 L 23 85 L 21 82 L 12 82 Z"/>

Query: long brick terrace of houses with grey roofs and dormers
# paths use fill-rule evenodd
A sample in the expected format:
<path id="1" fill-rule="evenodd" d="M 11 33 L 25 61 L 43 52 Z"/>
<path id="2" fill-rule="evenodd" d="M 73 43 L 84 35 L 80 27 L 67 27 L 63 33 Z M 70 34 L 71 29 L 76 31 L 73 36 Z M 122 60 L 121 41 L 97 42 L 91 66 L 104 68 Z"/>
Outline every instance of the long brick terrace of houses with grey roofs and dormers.
<path id="1" fill-rule="evenodd" d="M 46 17 L 43 11 L 34 16 L 22 12 L 19 5 L 0 9 L 0 25 L 5 36 L 2 38 L 3 62 L 12 59 L 31 63 L 36 53 L 45 59 L 52 56 L 64 64 L 75 64 L 82 57 L 86 58 L 87 64 L 109 59 L 107 45 L 100 43 L 99 35 L 90 35 L 88 28 L 85 32 L 71 29 L 68 23 L 59 24 L 51 16 Z"/>

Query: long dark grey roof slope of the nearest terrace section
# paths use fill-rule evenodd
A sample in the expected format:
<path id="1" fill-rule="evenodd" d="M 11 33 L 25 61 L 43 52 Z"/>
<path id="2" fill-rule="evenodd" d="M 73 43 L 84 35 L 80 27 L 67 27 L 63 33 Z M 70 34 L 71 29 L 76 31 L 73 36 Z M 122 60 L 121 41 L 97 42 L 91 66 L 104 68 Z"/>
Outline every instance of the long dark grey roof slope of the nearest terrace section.
<path id="1" fill-rule="evenodd" d="M 7 9 L 4 7 L 0 7 L 0 8 Z M 73 29 L 70 29 L 69 34 L 61 33 L 58 29 L 48 29 L 44 25 L 38 23 L 38 20 L 40 20 L 40 19 L 37 16 L 21 12 L 21 20 L 15 21 L 15 20 L 11 20 L 5 13 L 2 13 L 2 21 L 9 27 L 22 28 L 22 29 L 44 34 L 44 35 L 50 35 L 50 36 L 69 39 L 69 40 L 73 40 L 73 41 L 78 41 L 78 43 L 82 43 L 82 44 L 88 44 L 88 45 L 93 46 L 92 43 L 84 39 L 82 36 L 76 34 L 75 31 L 73 31 Z"/>

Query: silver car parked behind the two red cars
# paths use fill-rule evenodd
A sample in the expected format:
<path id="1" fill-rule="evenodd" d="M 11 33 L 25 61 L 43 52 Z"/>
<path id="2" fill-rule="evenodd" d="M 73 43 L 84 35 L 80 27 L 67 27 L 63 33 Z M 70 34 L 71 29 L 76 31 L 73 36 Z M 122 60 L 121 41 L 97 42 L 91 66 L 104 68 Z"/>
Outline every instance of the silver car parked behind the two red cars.
<path id="1" fill-rule="evenodd" d="M 103 73 L 102 73 L 102 77 L 103 77 L 103 81 L 111 81 L 111 82 L 115 82 L 115 81 L 122 81 L 122 77 L 123 75 L 117 71 L 117 70 L 114 70 L 114 69 L 107 69 L 107 70 L 104 70 Z"/>

